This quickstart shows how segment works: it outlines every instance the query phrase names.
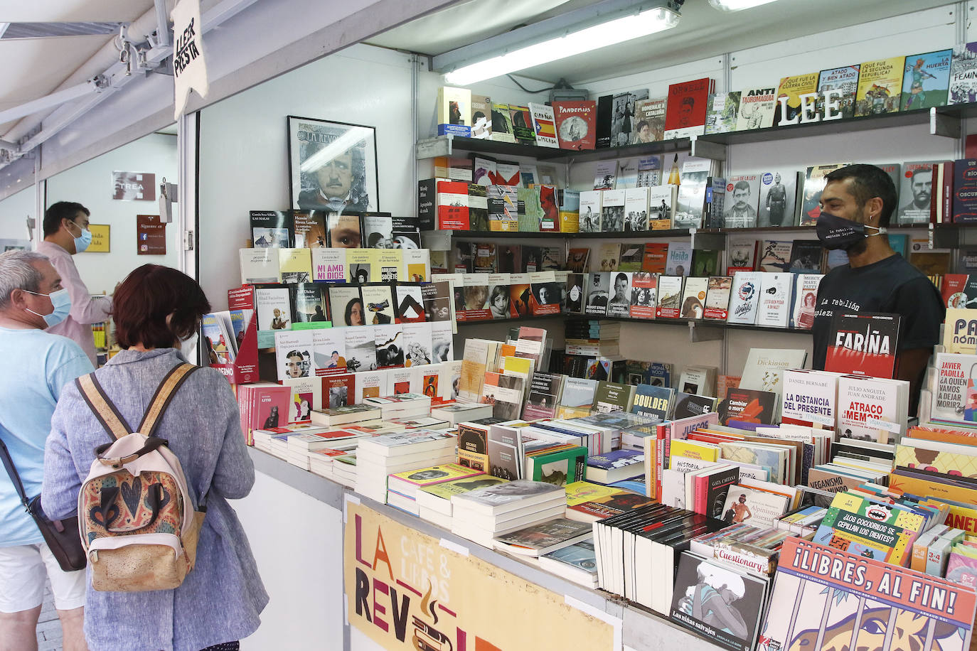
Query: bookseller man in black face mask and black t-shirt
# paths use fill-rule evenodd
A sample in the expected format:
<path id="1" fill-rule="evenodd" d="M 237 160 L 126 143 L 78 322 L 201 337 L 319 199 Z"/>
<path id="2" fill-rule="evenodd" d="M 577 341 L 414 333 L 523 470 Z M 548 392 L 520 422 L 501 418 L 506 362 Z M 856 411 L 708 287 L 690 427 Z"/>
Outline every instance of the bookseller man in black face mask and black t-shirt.
<path id="1" fill-rule="evenodd" d="M 818 288 L 814 368 L 825 368 L 831 317 L 842 312 L 887 312 L 902 316 L 896 378 L 910 383 L 915 415 L 926 364 L 939 344 L 946 309 L 940 293 L 921 271 L 889 246 L 885 235 L 896 207 L 896 188 L 874 165 L 849 165 L 831 172 L 821 194 L 818 239 L 842 249 L 849 264 L 828 272 Z"/>

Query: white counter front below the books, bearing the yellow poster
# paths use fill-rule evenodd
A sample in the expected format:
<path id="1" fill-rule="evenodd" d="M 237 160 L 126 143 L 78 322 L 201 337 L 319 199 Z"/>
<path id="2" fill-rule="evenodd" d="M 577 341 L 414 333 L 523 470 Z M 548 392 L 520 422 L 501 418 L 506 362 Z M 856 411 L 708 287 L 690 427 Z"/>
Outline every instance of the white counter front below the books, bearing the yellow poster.
<path id="1" fill-rule="evenodd" d="M 483 548 L 272 455 L 254 448 L 249 451 L 257 472 L 255 487 L 247 498 L 234 502 L 234 509 L 247 532 L 271 602 L 262 615 L 261 628 L 242 641 L 242 649 L 414 648 L 410 631 L 415 623 L 407 622 L 405 641 L 400 641 L 395 633 L 400 629 L 400 634 L 404 634 L 407 618 L 403 611 L 397 612 L 397 606 L 391 608 L 391 597 L 395 595 L 398 603 L 404 605 L 414 597 L 409 592 L 419 595 L 414 603 L 421 601 L 420 590 L 408 585 L 419 585 L 416 571 L 405 569 L 404 559 L 397 558 L 402 552 L 413 557 L 426 555 L 429 560 L 425 562 L 431 567 L 440 565 L 443 574 L 446 563 L 451 568 L 452 592 L 443 601 L 457 612 L 445 608 L 444 603 L 439 606 L 449 613 L 442 614 L 439 626 L 445 629 L 450 625 L 452 651 L 466 651 L 466 647 L 543 648 L 499 641 L 505 636 L 500 631 L 519 626 L 515 615 L 523 610 L 531 611 L 534 630 L 554 631 L 579 625 L 585 631 L 578 635 L 592 633 L 588 639 L 606 640 L 602 646 L 608 649 L 718 648 L 606 592 L 583 588 L 530 561 Z M 351 514 L 354 516 L 347 518 Z M 354 530 L 356 515 L 360 515 L 360 538 Z M 385 532 L 382 542 L 376 539 L 377 530 Z M 432 554 L 436 556 L 434 562 L 430 561 Z M 370 575 L 369 581 L 362 581 L 362 573 L 351 568 L 362 568 Z M 404 572 L 418 581 L 411 581 Z M 470 573 L 467 578 L 466 572 Z M 388 575 L 390 581 L 381 581 Z M 361 588 L 368 588 L 369 595 L 360 595 L 364 599 L 360 605 L 367 608 L 358 609 L 359 617 L 356 612 L 350 613 L 355 624 L 351 627 L 346 609 L 353 604 L 348 604 L 344 596 L 344 585 L 357 590 L 357 580 L 361 581 Z M 505 596 L 492 598 L 493 590 Z M 437 594 L 429 596 L 434 599 Z M 461 612 L 459 603 L 467 606 L 466 613 Z M 538 605 L 524 605 L 507 617 L 504 608 L 518 603 Z M 410 613 L 415 615 L 411 620 L 416 619 L 415 611 Z M 457 622 L 452 623 L 450 616 Z M 569 618 L 565 622 L 555 619 L 564 616 Z M 483 619 L 493 626 L 484 626 Z M 499 629 L 500 619 L 507 620 L 507 628 Z M 586 626 L 588 622 L 592 626 Z M 447 643 L 443 648 L 449 648 Z"/>

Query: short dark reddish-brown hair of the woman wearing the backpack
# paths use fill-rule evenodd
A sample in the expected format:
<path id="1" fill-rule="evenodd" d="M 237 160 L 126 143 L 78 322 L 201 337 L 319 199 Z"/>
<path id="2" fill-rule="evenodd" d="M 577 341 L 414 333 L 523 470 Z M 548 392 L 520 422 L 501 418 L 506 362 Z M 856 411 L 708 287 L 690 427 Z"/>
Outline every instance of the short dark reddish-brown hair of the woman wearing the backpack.
<path id="1" fill-rule="evenodd" d="M 207 296 L 189 275 L 161 264 L 143 264 L 115 290 L 115 339 L 122 348 L 168 348 L 174 340 L 190 337 L 209 311 Z"/>

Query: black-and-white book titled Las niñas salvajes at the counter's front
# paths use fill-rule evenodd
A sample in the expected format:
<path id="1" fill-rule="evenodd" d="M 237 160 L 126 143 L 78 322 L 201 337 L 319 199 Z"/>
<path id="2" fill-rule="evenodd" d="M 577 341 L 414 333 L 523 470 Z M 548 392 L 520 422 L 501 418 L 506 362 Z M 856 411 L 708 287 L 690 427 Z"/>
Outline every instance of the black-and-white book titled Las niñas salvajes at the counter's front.
<path id="1" fill-rule="evenodd" d="M 730 651 L 750 651 L 768 580 L 683 551 L 668 619 Z M 717 603 L 721 605 L 716 607 Z"/>

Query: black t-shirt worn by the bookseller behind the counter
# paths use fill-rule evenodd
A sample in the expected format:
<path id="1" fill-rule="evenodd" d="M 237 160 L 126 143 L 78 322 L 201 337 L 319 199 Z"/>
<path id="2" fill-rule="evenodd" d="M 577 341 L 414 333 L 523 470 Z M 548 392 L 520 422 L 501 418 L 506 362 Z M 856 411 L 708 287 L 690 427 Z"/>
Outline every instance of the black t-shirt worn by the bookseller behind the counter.
<path id="1" fill-rule="evenodd" d="M 940 324 L 947 310 L 930 279 L 898 253 L 866 266 L 835 267 L 818 287 L 811 328 L 813 368 L 825 368 L 831 317 L 846 311 L 899 314 L 903 318 L 898 350 L 909 350 L 940 343 Z"/>

